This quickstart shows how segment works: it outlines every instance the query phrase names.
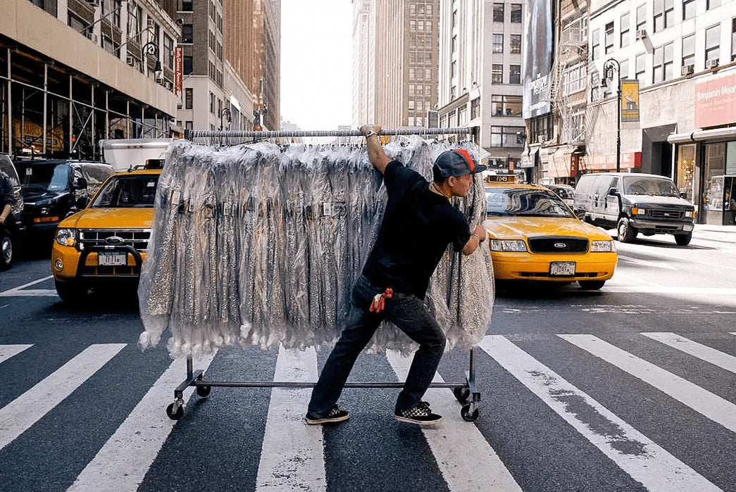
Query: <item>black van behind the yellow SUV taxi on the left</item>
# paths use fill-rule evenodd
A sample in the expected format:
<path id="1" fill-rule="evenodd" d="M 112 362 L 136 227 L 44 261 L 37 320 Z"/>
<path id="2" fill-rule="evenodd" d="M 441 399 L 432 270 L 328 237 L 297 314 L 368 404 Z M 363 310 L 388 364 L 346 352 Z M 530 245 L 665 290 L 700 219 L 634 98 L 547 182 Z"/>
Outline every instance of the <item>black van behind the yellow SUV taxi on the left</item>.
<path id="1" fill-rule="evenodd" d="M 53 231 L 59 221 L 82 210 L 113 166 L 79 160 L 20 160 L 24 221 L 29 232 Z"/>

